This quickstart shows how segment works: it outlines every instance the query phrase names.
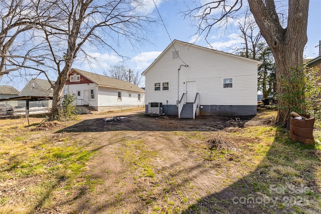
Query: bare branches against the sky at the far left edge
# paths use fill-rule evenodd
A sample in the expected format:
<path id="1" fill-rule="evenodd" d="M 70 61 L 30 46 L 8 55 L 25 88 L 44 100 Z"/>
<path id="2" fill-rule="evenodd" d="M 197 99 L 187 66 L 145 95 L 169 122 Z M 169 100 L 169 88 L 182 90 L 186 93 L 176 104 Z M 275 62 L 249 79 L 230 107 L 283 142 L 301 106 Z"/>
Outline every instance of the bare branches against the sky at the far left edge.
<path id="1" fill-rule="evenodd" d="M 25 0 L 0 2 L 0 77 L 21 68 L 37 70 L 42 61 L 33 53 L 41 44 L 33 43 L 33 32 L 38 18 L 32 4 Z"/>

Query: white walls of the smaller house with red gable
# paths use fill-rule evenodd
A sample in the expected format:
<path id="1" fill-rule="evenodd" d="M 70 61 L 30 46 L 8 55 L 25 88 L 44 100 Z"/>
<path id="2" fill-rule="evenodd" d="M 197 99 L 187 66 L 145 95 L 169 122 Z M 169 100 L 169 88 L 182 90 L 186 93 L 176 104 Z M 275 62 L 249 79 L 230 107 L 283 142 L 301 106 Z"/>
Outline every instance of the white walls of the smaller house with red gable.
<path id="1" fill-rule="evenodd" d="M 90 89 L 95 89 L 95 99 L 90 99 Z M 128 91 L 101 86 L 98 87 L 94 83 L 65 85 L 64 90 L 66 90 L 69 94 L 74 93 L 76 95 L 77 91 L 80 90 L 81 96 L 77 96 L 77 99 L 83 99 L 86 102 L 89 102 L 91 106 L 144 106 L 144 92 Z M 122 93 L 121 101 L 118 101 L 118 91 L 121 91 Z M 87 96 L 85 96 L 85 92 L 88 93 Z M 131 93 L 131 97 L 128 96 L 129 93 Z M 138 101 L 138 93 L 140 93 L 140 101 Z M 78 104 L 80 105 L 80 101 L 78 101 Z M 86 103 L 84 102 L 83 104 Z"/>

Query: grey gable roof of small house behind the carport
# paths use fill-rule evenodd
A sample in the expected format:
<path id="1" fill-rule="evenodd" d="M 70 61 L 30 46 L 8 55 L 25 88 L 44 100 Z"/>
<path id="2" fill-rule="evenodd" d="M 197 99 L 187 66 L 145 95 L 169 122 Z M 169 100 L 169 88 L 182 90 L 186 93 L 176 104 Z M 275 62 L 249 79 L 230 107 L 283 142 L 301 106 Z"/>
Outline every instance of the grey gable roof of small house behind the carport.
<path id="1" fill-rule="evenodd" d="M 55 81 L 50 81 L 55 84 Z M 35 83 L 35 89 L 32 89 L 31 84 Z M 27 85 L 21 90 L 19 96 L 52 96 L 53 90 L 48 80 L 31 79 Z"/>

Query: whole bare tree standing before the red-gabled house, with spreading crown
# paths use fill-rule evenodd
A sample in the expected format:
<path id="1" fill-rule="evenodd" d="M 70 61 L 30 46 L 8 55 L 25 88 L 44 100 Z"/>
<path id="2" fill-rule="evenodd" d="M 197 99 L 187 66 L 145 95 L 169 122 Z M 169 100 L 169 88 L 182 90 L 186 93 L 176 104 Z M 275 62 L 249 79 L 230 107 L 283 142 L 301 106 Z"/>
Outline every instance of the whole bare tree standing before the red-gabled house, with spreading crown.
<path id="1" fill-rule="evenodd" d="M 79 56 L 91 59 L 86 47 L 117 53 L 120 43 L 129 42 L 135 46 L 146 42 L 147 25 L 153 20 L 139 13 L 137 9 L 142 4 L 142 0 L 43 0 L 34 3 L 41 30 L 39 37 L 47 43 L 41 50 L 46 73 L 57 74 L 49 120 L 59 119 L 63 89 L 75 59 Z M 48 13 L 43 12 L 44 8 L 50 8 Z M 52 17 L 50 22 L 41 22 L 47 16 Z"/>

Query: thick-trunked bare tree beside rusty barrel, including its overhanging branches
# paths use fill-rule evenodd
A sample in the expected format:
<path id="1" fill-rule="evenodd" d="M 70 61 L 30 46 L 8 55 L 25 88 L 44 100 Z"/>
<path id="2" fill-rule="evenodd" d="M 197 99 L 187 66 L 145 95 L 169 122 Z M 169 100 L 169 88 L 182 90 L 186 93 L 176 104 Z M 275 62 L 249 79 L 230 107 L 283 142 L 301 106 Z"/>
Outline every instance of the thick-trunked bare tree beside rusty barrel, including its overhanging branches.
<path id="1" fill-rule="evenodd" d="M 306 28 L 308 16 L 308 0 L 288 1 L 287 16 L 281 16 L 276 11 L 274 0 L 248 0 L 250 11 L 253 14 L 262 36 L 271 48 L 275 59 L 277 91 L 283 96 L 291 94 L 291 99 L 278 100 L 278 114 L 276 125 L 289 127 L 290 112 L 304 111 L 304 79 L 303 79 L 303 50 L 307 42 Z M 235 18 L 242 8 L 243 0 L 217 0 L 187 11 L 186 16 L 192 17 L 199 23 L 200 34 L 206 37 L 211 33 L 215 24 L 228 22 Z M 220 10 L 221 13 L 213 13 Z M 283 18 L 287 22 L 283 24 Z M 282 87 L 281 80 L 290 81 L 293 74 L 297 75 L 300 83 L 291 87 L 291 91 Z"/>

